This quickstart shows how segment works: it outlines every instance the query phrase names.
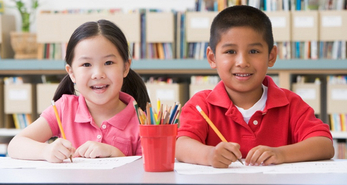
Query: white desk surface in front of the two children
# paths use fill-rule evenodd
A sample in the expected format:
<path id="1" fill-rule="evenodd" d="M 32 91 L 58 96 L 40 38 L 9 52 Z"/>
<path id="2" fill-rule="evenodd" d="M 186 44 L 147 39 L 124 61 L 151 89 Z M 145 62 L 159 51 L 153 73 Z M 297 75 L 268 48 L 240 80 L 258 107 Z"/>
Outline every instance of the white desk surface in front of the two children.
<path id="1" fill-rule="evenodd" d="M 0 169 L 0 184 L 347 184 L 346 173 L 180 175 L 145 172 L 142 163 L 111 170 Z"/>

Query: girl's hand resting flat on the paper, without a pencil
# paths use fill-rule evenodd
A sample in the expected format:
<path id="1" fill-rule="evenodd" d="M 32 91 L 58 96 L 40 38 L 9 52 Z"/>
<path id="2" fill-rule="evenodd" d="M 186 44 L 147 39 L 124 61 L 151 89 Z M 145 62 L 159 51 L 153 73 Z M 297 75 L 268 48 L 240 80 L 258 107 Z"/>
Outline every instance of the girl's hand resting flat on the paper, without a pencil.
<path id="1" fill-rule="evenodd" d="M 96 141 L 87 141 L 77 148 L 73 157 L 121 157 L 125 156 L 118 148 Z"/>

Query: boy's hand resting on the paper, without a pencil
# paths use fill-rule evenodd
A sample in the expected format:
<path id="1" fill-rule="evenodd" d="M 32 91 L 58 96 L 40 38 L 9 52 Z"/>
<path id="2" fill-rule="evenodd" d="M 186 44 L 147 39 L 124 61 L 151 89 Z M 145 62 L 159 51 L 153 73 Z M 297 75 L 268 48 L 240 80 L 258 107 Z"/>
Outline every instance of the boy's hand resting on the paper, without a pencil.
<path id="1" fill-rule="evenodd" d="M 246 165 L 259 166 L 283 163 L 284 156 L 279 148 L 259 145 L 252 148 L 245 159 Z"/>

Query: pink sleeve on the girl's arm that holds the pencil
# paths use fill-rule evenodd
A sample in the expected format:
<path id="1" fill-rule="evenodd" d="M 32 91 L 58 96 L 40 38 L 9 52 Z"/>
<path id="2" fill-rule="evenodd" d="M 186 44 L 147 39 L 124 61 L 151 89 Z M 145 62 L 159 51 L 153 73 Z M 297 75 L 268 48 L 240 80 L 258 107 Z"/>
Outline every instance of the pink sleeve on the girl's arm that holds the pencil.
<path id="1" fill-rule="evenodd" d="M 62 104 L 63 104 L 63 98 L 60 98 L 58 101 L 55 102 L 55 106 L 57 107 L 57 110 L 58 110 L 58 114 L 60 116 L 60 120 L 62 119 L 62 111 L 61 111 L 61 107 L 62 107 Z M 59 130 L 59 126 L 58 126 L 58 121 L 57 121 L 57 118 L 55 117 L 55 112 L 53 110 L 53 106 L 49 106 L 47 107 L 42 113 L 41 115 L 42 117 L 44 117 L 51 130 L 52 130 L 52 134 L 53 136 L 60 136 L 60 130 Z"/>

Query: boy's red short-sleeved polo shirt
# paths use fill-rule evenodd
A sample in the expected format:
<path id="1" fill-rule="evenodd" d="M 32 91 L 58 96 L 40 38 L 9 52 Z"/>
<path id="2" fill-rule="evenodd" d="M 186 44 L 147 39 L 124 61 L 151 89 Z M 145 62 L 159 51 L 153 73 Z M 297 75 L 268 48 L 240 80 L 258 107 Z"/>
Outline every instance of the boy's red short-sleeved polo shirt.
<path id="1" fill-rule="evenodd" d="M 230 100 L 221 81 L 213 90 L 196 93 L 182 108 L 178 135 L 216 146 L 221 140 L 196 109 L 199 105 L 229 142 L 240 144 L 242 157 L 258 145 L 278 147 L 314 136 L 332 139 L 329 126 L 316 118 L 313 109 L 297 94 L 276 86 L 267 76 L 264 111 L 257 111 L 247 124 Z"/>

